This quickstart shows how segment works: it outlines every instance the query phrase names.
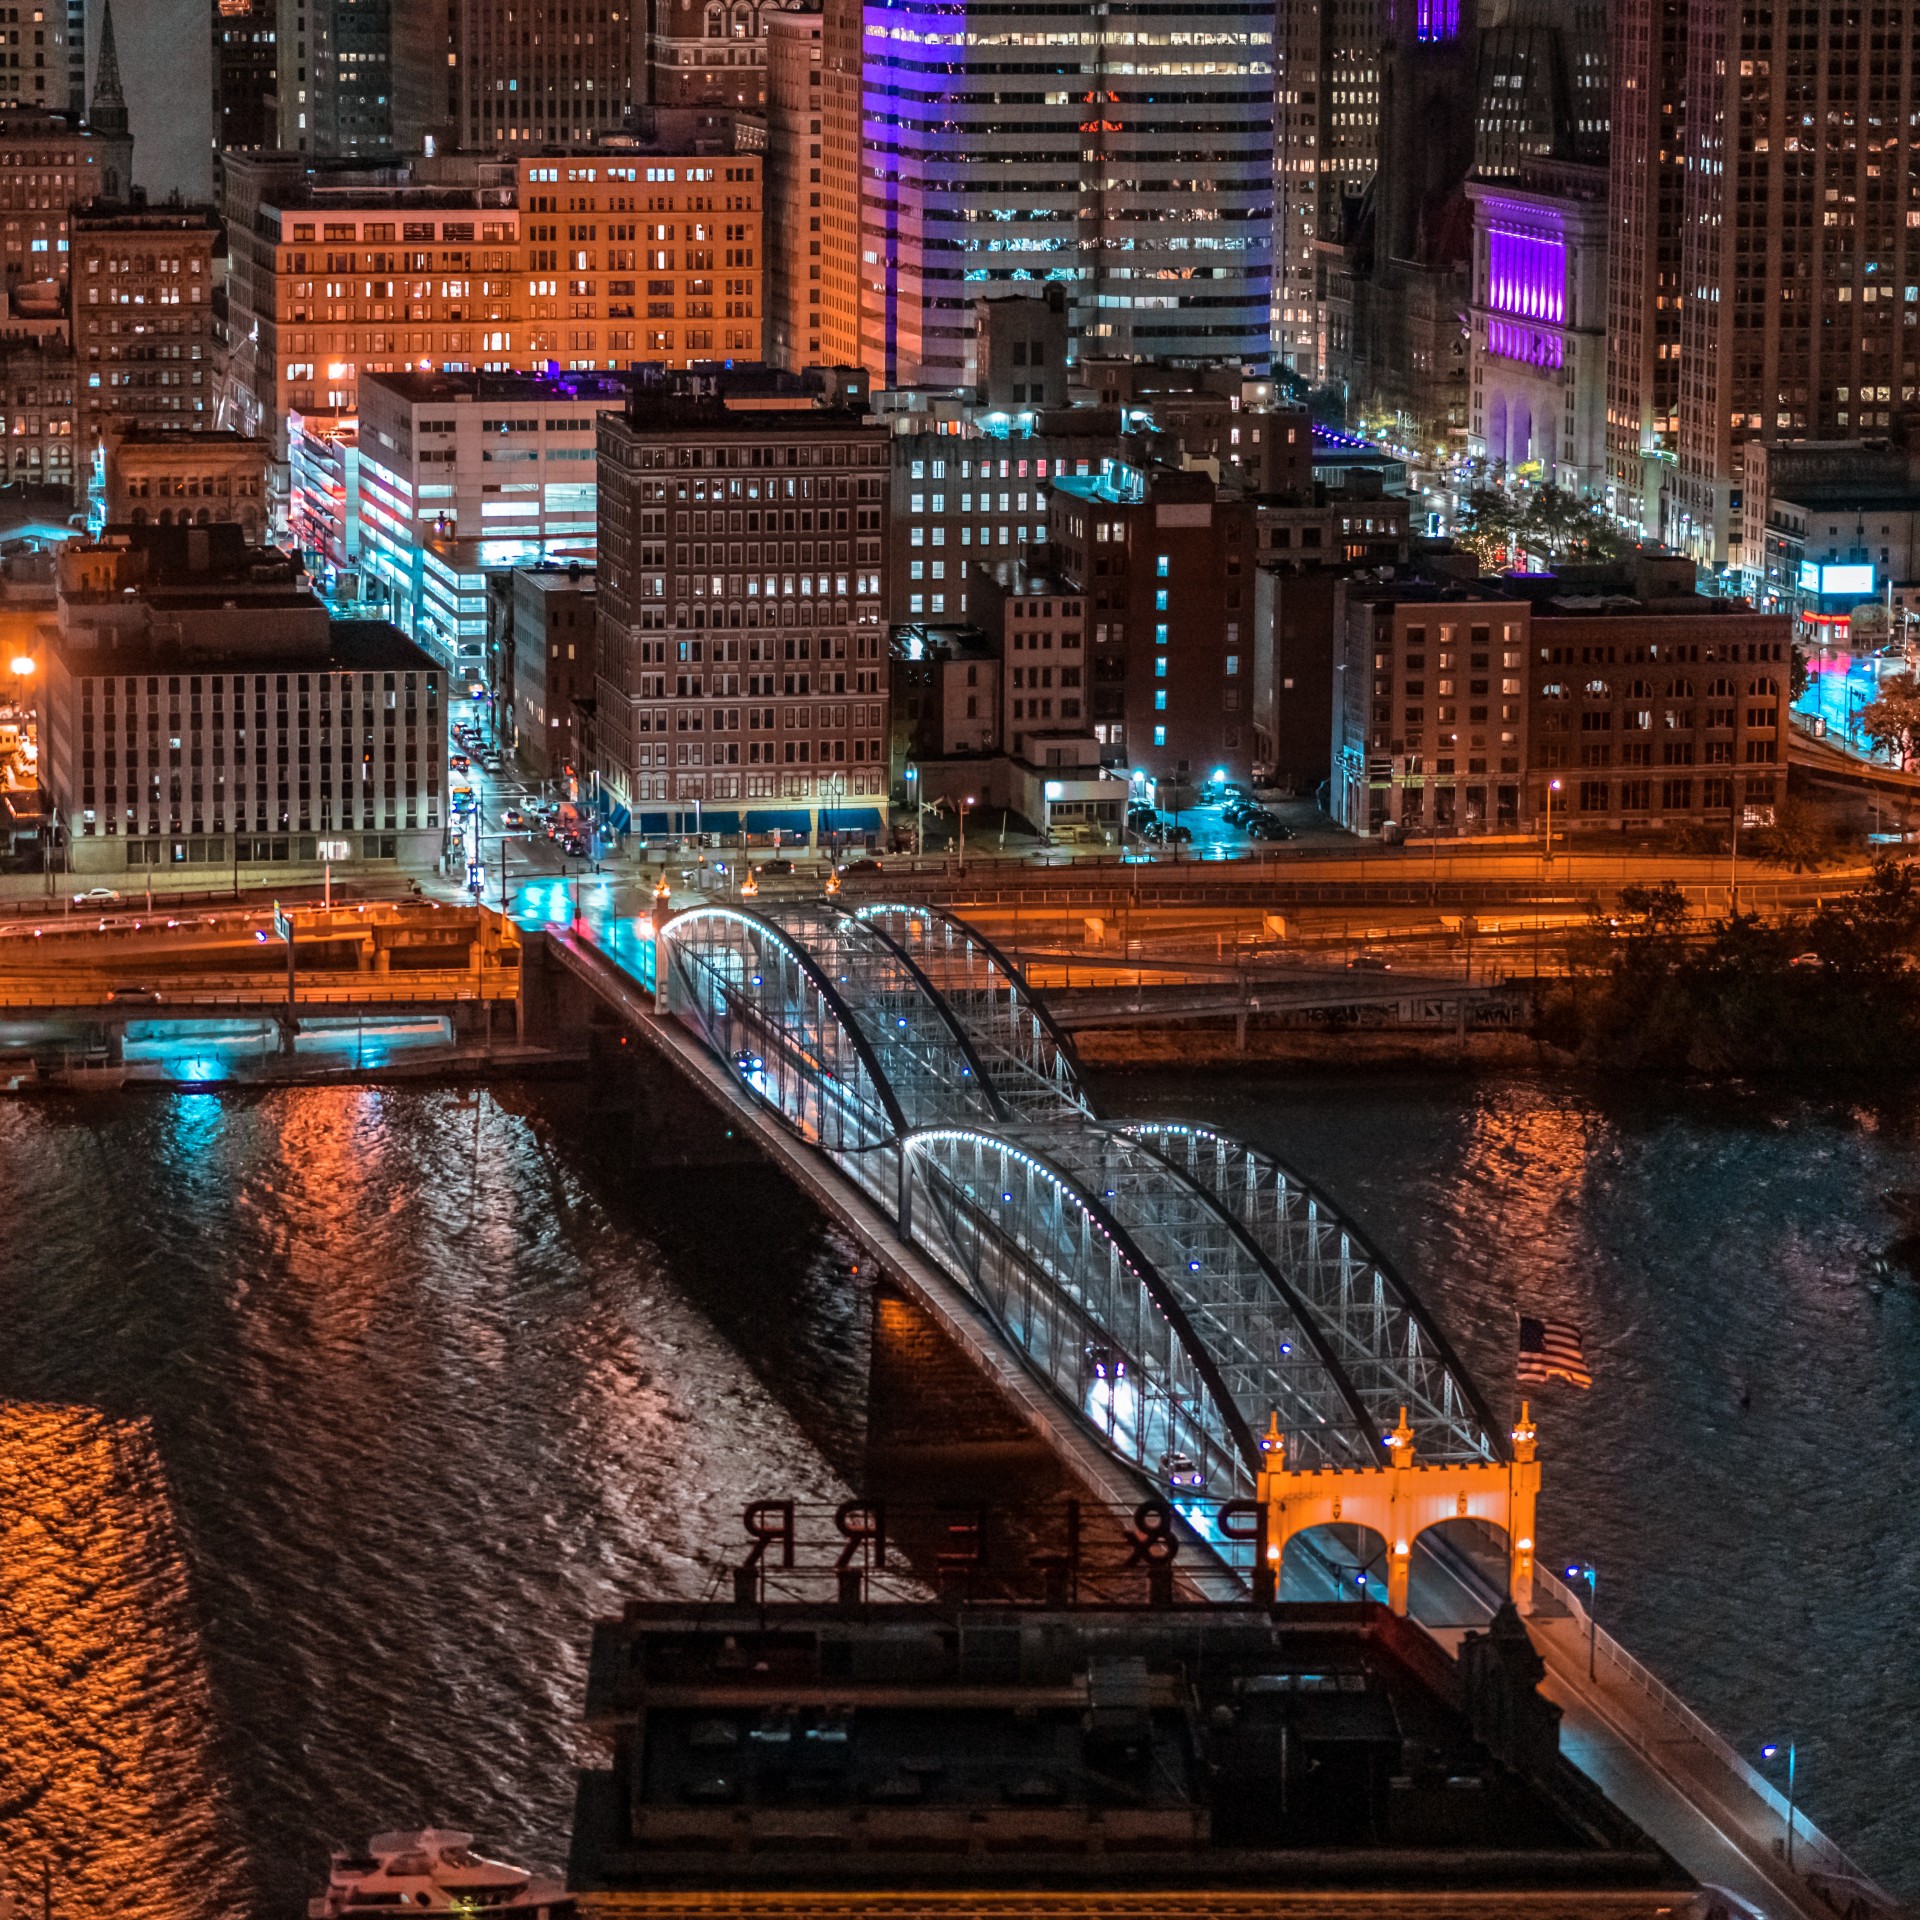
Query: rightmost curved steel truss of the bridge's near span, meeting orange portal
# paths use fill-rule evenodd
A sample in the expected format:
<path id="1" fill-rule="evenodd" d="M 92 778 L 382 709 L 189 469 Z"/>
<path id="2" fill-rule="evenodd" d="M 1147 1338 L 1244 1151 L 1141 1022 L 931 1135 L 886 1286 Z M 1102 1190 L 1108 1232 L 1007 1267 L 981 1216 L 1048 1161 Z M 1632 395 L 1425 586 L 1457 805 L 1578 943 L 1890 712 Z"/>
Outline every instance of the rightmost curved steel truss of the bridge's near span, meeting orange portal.
<path id="1" fill-rule="evenodd" d="M 1438 1325 L 1323 1194 L 1206 1127 L 1140 1121 L 1127 1131 L 1215 1194 L 1261 1246 L 1365 1404 L 1375 1446 L 1405 1407 L 1425 1459 L 1505 1457 L 1500 1423 Z"/>

